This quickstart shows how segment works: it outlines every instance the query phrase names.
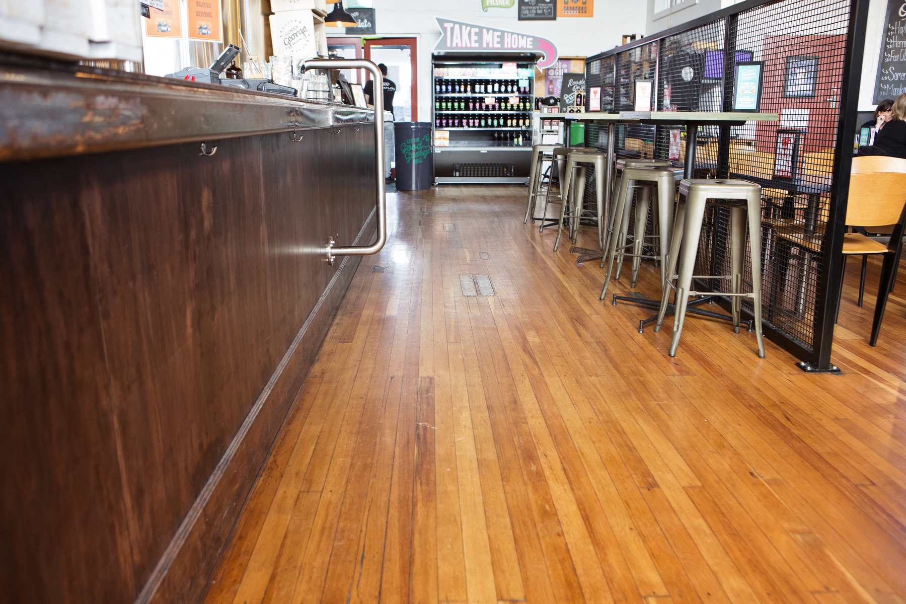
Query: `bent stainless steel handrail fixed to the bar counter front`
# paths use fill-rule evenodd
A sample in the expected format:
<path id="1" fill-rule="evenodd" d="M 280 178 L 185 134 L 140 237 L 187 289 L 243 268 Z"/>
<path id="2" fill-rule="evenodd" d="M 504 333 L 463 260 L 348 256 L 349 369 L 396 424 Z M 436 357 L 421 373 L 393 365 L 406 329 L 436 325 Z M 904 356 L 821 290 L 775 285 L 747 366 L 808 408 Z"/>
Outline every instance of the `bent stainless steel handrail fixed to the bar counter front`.
<path id="1" fill-rule="evenodd" d="M 378 196 L 378 239 L 371 245 L 335 245 L 333 237 L 327 243 L 327 262 L 336 256 L 365 256 L 377 254 L 387 243 L 387 196 L 384 185 L 384 76 L 378 66 L 365 59 L 312 59 L 302 63 L 302 71 L 310 69 L 367 69 L 374 77 L 374 172 Z"/>

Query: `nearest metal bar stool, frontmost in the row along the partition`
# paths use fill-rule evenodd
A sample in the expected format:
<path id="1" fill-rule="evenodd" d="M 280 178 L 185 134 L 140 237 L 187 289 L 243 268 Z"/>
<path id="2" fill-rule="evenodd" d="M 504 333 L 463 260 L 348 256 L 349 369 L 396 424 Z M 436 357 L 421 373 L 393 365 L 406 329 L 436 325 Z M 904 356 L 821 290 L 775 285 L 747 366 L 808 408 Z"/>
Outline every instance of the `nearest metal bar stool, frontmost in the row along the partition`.
<path id="1" fill-rule="evenodd" d="M 654 331 L 660 331 L 660 323 L 667 312 L 670 298 L 670 283 L 676 284 L 676 313 L 673 319 L 673 339 L 670 340 L 670 356 L 675 357 L 679 346 L 679 335 L 682 323 L 686 318 L 686 306 L 689 296 L 713 295 L 714 292 L 695 292 L 691 289 L 692 279 L 729 279 L 732 283 L 731 293 L 719 293 L 731 298 L 733 314 L 733 331 L 739 333 L 739 312 L 742 298 L 752 298 L 755 315 L 755 338 L 758 344 L 758 357 L 765 358 L 765 342 L 761 329 L 761 187 L 747 180 L 725 180 L 706 178 L 684 178 L 679 183 L 679 207 L 673 222 L 673 238 L 670 242 L 667 270 L 663 274 L 665 286 L 660 296 L 660 312 Z M 685 197 L 685 199 L 683 199 Z M 710 201 L 708 201 L 710 200 Z M 730 208 L 730 271 L 729 275 L 693 275 L 695 257 L 699 252 L 699 235 L 701 223 L 707 206 L 725 206 Z M 743 254 L 746 250 L 746 219 L 748 218 L 749 252 L 752 262 L 752 292 L 743 293 L 742 271 Z M 679 257 L 679 274 L 676 270 L 679 246 L 682 255 Z"/>

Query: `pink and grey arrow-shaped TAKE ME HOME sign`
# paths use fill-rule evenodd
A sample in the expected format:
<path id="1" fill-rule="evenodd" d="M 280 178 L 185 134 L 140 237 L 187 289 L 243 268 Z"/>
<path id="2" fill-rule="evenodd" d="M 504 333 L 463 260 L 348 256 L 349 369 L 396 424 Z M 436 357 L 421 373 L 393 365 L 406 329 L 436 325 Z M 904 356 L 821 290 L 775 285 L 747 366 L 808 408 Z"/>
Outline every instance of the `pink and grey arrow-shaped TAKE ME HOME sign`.
<path id="1" fill-rule="evenodd" d="M 506 29 L 463 23 L 453 19 L 434 17 L 438 20 L 440 39 L 434 45 L 435 51 L 445 53 L 475 53 L 496 51 L 497 53 L 542 53 L 545 58 L 538 67 L 546 69 L 557 60 L 557 48 L 546 38 L 536 35 L 510 32 Z"/>

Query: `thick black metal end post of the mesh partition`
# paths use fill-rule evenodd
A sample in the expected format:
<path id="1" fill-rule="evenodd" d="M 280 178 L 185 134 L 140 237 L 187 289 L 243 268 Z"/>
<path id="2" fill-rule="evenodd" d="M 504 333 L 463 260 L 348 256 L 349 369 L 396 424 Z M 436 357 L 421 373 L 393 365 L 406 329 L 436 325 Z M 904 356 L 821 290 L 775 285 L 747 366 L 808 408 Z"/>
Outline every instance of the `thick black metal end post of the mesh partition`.
<path id="1" fill-rule="evenodd" d="M 865 28 L 868 23 L 869 0 L 852 0 L 843 58 L 843 81 L 840 91 L 840 113 L 837 120 L 837 139 L 834 147 L 834 182 L 827 227 L 821 250 L 817 297 L 814 312 L 814 357 L 796 365 L 804 371 L 836 372 L 831 363 L 834 344 L 834 318 L 840 305 L 840 283 L 843 275 L 843 231 L 846 221 L 846 201 L 849 196 L 850 170 L 853 165 L 853 137 L 856 129 L 856 110 L 859 85 L 862 81 L 862 62 L 865 49 Z"/>

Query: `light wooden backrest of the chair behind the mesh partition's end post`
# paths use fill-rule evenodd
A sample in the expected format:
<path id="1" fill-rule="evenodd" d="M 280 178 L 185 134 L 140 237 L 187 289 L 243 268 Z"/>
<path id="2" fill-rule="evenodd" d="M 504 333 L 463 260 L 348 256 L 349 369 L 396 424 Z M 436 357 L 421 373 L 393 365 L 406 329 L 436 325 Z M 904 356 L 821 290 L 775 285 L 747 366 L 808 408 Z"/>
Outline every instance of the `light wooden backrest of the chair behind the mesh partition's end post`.
<path id="1" fill-rule="evenodd" d="M 853 158 L 846 224 L 892 225 L 906 205 L 906 159 Z"/>

